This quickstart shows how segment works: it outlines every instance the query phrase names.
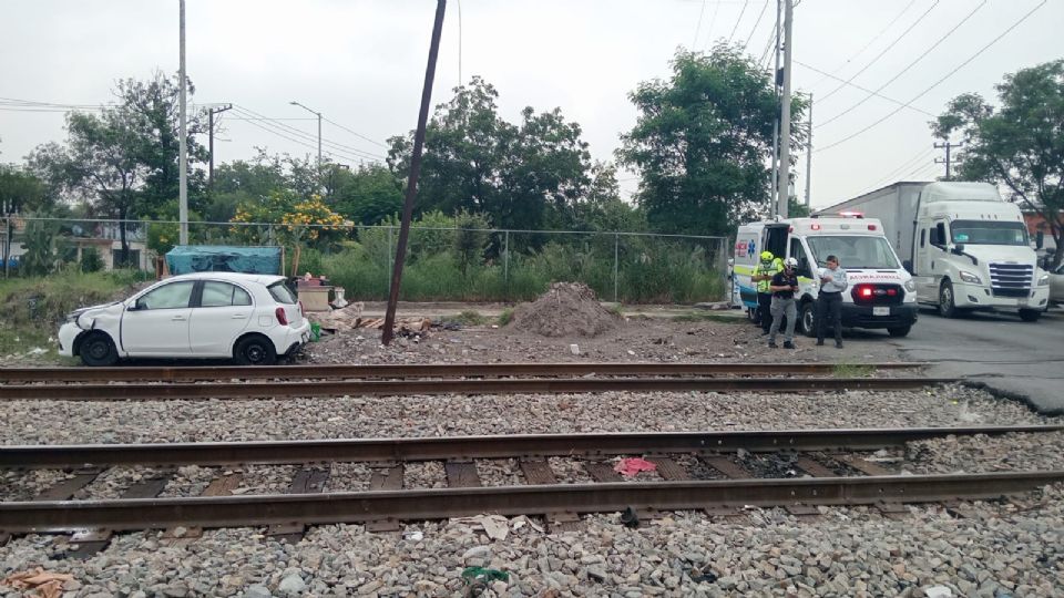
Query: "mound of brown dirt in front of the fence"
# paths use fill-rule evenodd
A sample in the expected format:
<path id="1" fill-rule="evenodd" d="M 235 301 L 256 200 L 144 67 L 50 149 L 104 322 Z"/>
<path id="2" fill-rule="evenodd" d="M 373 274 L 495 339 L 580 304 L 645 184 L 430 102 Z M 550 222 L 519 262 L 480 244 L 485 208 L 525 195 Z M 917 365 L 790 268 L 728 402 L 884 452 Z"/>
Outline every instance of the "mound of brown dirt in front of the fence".
<path id="1" fill-rule="evenodd" d="M 543 337 L 597 337 L 617 320 L 582 282 L 553 282 L 539 299 L 513 312 L 514 328 Z"/>

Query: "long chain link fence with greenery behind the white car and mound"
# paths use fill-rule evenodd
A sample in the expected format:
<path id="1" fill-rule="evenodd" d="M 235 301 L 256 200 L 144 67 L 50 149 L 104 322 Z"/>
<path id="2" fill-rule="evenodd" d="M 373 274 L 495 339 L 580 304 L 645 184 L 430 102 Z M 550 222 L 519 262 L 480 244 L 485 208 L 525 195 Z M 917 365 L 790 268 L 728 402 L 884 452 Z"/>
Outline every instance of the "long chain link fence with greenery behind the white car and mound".
<path id="1" fill-rule="evenodd" d="M 58 268 L 156 270 L 178 223 L 2 220 L 4 276 Z M 284 272 L 326 276 L 348 300 L 388 296 L 396 226 L 188 223 L 191 245 L 280 246 Z M 294 248 L 298 247 L 298 251 Z M 692 303 L 725 298 L 725 237 L 569 230 L 410 229 L 401 298 L 516 301 L 552 281 L 584 282 L 605 300 Z M 32 271 L 30 271 L 32 270 Z"/>

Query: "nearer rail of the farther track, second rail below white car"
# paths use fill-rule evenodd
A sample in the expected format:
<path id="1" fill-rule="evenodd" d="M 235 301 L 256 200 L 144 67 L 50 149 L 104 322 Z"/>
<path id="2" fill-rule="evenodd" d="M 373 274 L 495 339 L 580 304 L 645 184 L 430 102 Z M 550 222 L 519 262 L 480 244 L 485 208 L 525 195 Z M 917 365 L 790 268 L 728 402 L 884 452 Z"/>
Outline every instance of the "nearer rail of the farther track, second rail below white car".
<path id="1" fill-rule="evenodd" d="M 174 399 L 279 399 L 416 394 L 594 392 L 816 392 L 908 390 L 955 382 L 942 378 L 575 378 L 474 380 L 362 380 L 212 384 L 0 385 L 0 400 L 129 401 Z"/>

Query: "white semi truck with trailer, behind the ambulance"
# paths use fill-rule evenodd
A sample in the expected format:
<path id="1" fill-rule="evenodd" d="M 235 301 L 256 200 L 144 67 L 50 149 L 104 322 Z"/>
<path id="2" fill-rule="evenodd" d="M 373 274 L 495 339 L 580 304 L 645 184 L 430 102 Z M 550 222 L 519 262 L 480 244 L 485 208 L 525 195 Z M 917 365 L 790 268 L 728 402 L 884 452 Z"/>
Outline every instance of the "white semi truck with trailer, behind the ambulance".
<path id="1" fill-rule="evenodd" d="M 1050 277 L 1037 266 L 1023 215 L 988 183 L 894 183 L 820 210 L 877 218 L 917 299 L 939 315 L 1004 310 L 1036 321 Z"/>

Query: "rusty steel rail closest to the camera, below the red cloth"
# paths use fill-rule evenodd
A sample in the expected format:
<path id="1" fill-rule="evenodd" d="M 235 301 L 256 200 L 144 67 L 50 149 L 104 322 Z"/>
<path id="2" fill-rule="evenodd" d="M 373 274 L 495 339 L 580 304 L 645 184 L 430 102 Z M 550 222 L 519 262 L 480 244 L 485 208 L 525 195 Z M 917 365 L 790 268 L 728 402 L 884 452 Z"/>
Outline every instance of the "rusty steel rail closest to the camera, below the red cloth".
<path id="1" fill-rule="evenodd" d="M 715 480 L 705 482 L 345 492 L 194 498 L 0 503 L 0 529 L 24 534 L 85 528 L 241 527 L 443 519 L 498 513 L 539 515 L 635 509 L 868 505 L 998 498 L 1064 482 L 1064 471 L 874 477 Z"/>

